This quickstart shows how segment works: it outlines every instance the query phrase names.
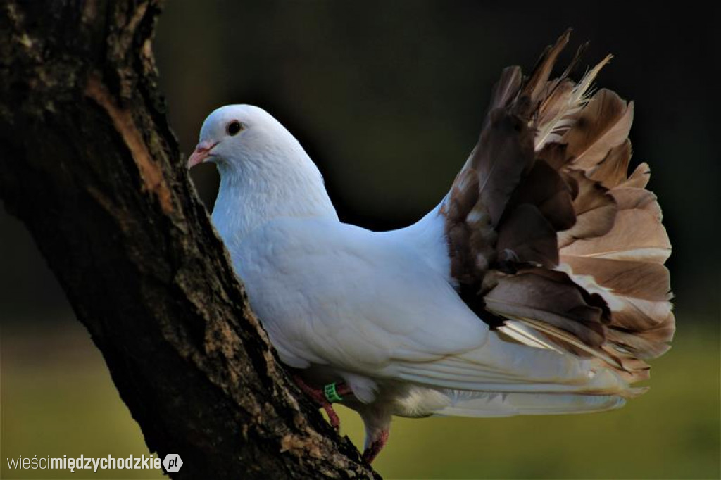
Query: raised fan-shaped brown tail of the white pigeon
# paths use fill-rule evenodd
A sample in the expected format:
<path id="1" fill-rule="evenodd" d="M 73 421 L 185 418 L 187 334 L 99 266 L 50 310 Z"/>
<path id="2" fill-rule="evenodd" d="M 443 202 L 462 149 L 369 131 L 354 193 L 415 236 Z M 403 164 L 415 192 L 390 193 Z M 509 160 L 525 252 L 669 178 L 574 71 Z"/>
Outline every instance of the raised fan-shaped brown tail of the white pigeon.
<path id="1" fill-rule="evenodd" d="M 671 244 L 641 164 L 627 176 L 633 104 L 569 69 L 568 33 L 526 81 L 507 68 L 441 212 L 451 275 L 481 318 L 528 345 L 596 357 L 628 381 L 673 337 Z M 574 60 L 575 61 L 575 60 Z M 512 319 L 503 325 L 504 319 Z M 524 340 L 526 339 L 526 340 Z"/>

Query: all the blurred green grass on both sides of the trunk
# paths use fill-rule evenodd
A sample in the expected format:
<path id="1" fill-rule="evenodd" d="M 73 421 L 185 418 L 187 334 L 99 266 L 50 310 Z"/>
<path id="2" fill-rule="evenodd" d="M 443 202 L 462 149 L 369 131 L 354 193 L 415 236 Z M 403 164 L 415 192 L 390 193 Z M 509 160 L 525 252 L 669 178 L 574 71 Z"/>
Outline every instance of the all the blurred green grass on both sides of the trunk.
<path id="1" fill-rule="evenodd" d="M 507 419 L 395 419 L 376 461 L 386 479 L 717 479 L 720 358 L 717 326 L 681 326 L 653 362 L 651 390 L 615 412 Z M 0 476 L 160 478 L 156 471 L 7 469 L 19 455 L 149 454 L 81 326 L 1 332 Z M 363 441 L 340 407 L 342 432 Z M 242 478 L 242 474 L 239 475 Z"/>

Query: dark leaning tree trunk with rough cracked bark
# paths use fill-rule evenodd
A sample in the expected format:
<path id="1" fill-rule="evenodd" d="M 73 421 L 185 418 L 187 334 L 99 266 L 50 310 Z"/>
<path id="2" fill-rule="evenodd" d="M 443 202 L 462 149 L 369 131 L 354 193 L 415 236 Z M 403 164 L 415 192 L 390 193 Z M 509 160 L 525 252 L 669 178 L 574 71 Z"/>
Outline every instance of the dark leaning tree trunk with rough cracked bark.
<path id="1" fill-rule="evenodd" d="M 1 5 L 0 195 L 177 479 L 373 476 L 288 381 L 185 172 L 157 1 Z M 38 292 L 42 295 L 42 292 Z"/>

